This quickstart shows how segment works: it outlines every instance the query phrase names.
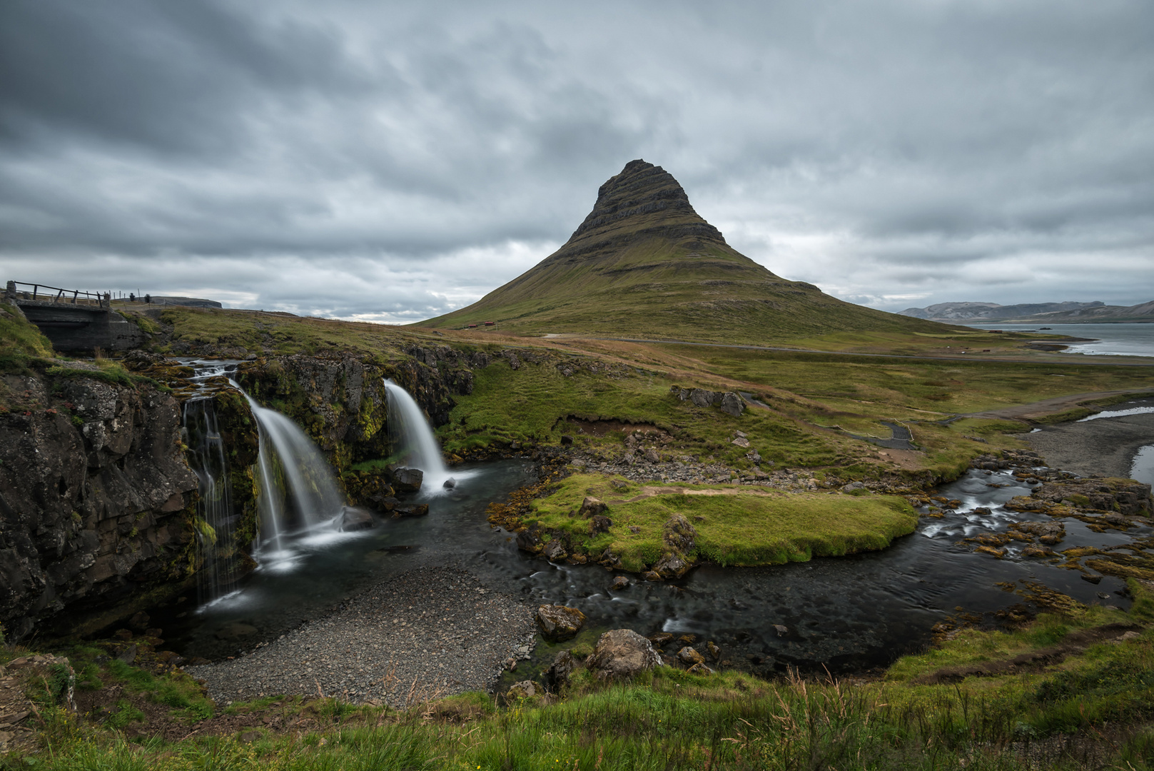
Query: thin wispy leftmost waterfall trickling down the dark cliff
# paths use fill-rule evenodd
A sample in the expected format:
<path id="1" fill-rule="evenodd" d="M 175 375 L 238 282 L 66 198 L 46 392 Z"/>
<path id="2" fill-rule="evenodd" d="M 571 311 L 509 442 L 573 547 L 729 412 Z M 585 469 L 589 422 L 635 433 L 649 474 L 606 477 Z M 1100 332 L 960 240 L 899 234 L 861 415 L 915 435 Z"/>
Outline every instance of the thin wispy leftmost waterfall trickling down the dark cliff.
<path id="1" fill-rule="evenodd" d="M 186 402 L 183 419 L 192 454 L 189 465 L 196 473 L 200 493 L 195 524 L 201 569 L 196 574 L 196 589 L 200 601 L 204 602 L 227 591 L 237 581 L 233 559 L 237 517 L 232 510 L 228 466 L 212 399 Z"/>

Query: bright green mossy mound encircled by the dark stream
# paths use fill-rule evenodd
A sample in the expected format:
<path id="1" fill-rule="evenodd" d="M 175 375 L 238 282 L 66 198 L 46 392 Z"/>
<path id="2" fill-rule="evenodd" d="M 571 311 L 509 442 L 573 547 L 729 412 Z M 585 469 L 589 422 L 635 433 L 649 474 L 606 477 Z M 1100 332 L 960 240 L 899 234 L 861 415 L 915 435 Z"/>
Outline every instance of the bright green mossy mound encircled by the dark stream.
<path id="1" fill-rule="evenodd" d="M 612 548 L 634 571 L 651 567 L 668 551 L 664 524 L 674 514 L 683 515 L 697 531 L 696 547 L 685 556 L 722 566 L 782 564 L 881 549 L 917 524 L 909 503 L 892 495 L 615 481 L 616 486 L 602 474 L 568 477 L 553 494 L 532 502 L 525 523 L 563 533 L 578 554 L 595 556 Z M 605 514 L 613 519 L 608 532 L 591 537 L 589 521 L 577 516 L 586 495 L 608 503 Z"/>

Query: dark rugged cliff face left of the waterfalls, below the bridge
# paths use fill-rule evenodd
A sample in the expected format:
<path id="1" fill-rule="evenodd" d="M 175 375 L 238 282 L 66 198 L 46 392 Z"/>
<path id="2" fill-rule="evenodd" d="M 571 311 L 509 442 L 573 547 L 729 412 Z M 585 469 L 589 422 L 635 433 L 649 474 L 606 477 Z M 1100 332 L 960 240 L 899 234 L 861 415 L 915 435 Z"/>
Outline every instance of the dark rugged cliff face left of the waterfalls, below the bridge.
<path id="1" fill-rule="evenodd" d="M 66 366 L 54 376 L 0 376 L 0 621 L 9 639 L 61 612 L 177 585 L 193 569 L 196 477 L 180 405 L 99 375 Z"/>

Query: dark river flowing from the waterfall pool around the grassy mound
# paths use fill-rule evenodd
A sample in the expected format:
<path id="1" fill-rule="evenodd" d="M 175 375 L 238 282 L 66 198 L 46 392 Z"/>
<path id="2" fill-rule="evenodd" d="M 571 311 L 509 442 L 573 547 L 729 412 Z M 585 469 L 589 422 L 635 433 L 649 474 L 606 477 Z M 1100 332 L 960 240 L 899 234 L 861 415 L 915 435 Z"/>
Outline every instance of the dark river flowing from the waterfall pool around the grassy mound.
<path id="1" fill-rule="evenodd" d="M 734 666 L 769 674 L 787 665 L 827 665 L 834 672 L 885 666 L 924 648 L 931 627 L 956 608 L 990 620 L 992 612 L 1022 601 L 996 585 L 999 582 L 1039 582 L 1081 602 L 1129 606 L 1119 593 L 1122 581 L 1107 576 L 1092 584 L 1078 571 L 1022 559 L 1014 552 L 1021 546 L 1017 541 L 1003 560 L 958 545 L 968 536 L 1004 531 L 1010 522 L 1034 516 L 1049 521 L 1001 508 L 1031 489 L 1007 473 L 971 471 L 942 487 L 943 495 L 959 499 L 961 506 L 941 519 L 922 518 L 915 533 L 881 552 L 767 568 L 702 567 L 679 582 L 635 581 L 610 592 L 607 587 L 617 574 L 532 557 L 516 548 L 509 533 L 486 522 L 490 501 L 534 480 L 527 461 L 458 466 L 455 472 L 460 479 L 455 491 L 419 496 L 430 504 L 427 517 L 382 519 L 369 531 L 293 539 L 276 559 L 261 560 L 235 592 L 202 607 L 192 596 L 150 611 L 152 626 L 162 627 L 168 646 L 185 656 L 220 658 L 323 615 L 410 568 L 452 564 L 533 605 L 580 608 L 589 616 L 589 634 L 619 627 L 644 635 L 695 634 L 721 645 Z M 990 512 L 974 511 L 977 507 Z M 1066 539 L 1056 548 L 1127 542 L 1148 532 L 1095 533 L 1074 519 L 1065 526 Z M 219 632 L 234 622 L 255 627 L 256 635 L 242 645 L 222 639 Z M 553 652 L 542 643 L 535 658 L 552 658 Z"/>

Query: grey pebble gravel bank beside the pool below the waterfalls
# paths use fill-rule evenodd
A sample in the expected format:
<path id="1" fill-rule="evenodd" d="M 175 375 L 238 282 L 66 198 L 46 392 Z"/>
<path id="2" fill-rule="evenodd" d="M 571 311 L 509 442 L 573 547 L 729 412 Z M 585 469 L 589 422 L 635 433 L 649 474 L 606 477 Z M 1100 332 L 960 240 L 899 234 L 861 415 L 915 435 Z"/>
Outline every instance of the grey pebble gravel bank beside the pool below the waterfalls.
<path id="1" fill-rule="evenodd" d="M 245 656 L 186 666 L 219 705 L 288 694 L 395 708 L 492 690 L 529 658 L 537 607 L 456 568 L 415 568 Z"/>

